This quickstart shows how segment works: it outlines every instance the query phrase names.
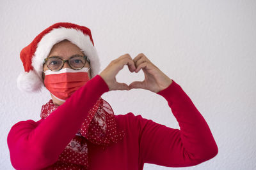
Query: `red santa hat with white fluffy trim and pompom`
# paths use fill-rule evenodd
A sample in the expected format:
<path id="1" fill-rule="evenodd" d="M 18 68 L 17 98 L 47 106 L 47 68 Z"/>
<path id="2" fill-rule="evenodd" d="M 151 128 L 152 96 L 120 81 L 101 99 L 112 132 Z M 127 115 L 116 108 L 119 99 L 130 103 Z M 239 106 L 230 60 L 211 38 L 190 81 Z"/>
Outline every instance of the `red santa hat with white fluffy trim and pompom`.
<path id="1" fill-rule="evenodd" d="M 67 39 L 77 45 L 90 60 L 92 77 L 99 73 L 100 62 L 94 47 L 90 29 L 84 26 L 59 22 L 42 31 L 20 52 L 24 72 L 20 73 L 17 85 L 26 92 L 40 91 L 44 87 L 42 80 L 43 62 L 51 52 L 52 46 Z"/>

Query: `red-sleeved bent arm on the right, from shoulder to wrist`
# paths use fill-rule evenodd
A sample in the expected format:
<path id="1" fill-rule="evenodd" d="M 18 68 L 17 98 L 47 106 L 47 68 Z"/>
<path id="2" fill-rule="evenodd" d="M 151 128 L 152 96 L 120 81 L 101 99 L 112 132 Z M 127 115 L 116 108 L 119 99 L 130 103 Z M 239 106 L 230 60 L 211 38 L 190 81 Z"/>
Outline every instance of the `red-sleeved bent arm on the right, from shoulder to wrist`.
<path id="1" fill-rule="evenodd" d="M 195 166 L 218 153 L 209 126 L 188 95 L 175 82 L 163 96 L 179 122 L 179 129 L 140 118 L 140 153 L 145 163 L 168 167 Z"/>

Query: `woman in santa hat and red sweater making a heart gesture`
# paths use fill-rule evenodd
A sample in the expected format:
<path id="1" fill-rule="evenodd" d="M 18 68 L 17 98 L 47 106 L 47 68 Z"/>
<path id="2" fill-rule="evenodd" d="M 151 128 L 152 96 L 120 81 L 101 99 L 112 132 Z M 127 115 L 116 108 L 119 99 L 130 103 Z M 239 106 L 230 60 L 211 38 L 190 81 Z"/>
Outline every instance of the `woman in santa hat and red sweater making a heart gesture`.
<path id="1" fill-rule="evenodd" d="M 195 166 L 218 153 L 204 117 L 180 85 L 145 54 L 126 53 L 99 73 L 100 62 L 87 27 L 51 25 L 22 49 L 24 73 L 20 90 L 45 87 L 51 98 L 38 121 L 17 122 L 8 133 L 15 169 L 143 169 L 145 163 L 166 167 Z M 144 81 L 116 81 L 129 67 Z M 166 99 L 180 129 L 127 113 L 115 115 L 102 94 L 111 90 L 145 89 Z M 161 110 L 159 109 L 159 113 Z"/>

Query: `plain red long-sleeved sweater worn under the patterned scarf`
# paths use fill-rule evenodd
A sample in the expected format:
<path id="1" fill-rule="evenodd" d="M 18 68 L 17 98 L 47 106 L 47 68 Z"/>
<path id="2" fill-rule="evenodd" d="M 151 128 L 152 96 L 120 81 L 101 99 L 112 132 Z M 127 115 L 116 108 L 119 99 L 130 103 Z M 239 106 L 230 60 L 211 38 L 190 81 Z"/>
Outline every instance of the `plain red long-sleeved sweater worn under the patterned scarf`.
<path id="1" fill-rule="evenodd" d="M 108 91 L 108 85 L 98 74 L 45 120 L 20 121 L 13 125 L 7 138 L 12 166 L 15 169 L 51 169 L 90 108 Z M 168 102 L 180 130 L 131 112 L 115 115 L 117 127 L 125 130 L 125 137 L 105 150 L 88 141 L 89 169 L 135 170 L 143 169 L 144 163 L 195 166 L 218 153 L 209 126 L 175 81 L 157 94 Z"/>

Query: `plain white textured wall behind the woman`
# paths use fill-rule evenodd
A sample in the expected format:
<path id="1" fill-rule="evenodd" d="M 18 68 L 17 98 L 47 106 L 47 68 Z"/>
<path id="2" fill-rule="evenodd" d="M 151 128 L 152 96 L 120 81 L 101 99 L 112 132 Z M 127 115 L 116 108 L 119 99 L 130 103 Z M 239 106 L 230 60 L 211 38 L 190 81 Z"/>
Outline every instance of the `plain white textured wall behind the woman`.
<path id="1" fill-rule="evenodd" d="M 212 131 L 219 153 L 181 169 L 255 169 L 255 1 L 0 1 L 0 169 L 13 169 L 6 143 L 13 124 L 39 120 L 49 92 L 17 89 L 24 71 L 19 53 L 56 22 L 89 27 L 101 71 L 111 60 L 143 52 L 188 94 Z M 127 66 L 116 79 L 143 80 Z M 152 119 L 179 128 L 167 102 L 148 90 L 102 96 L 115 114 Z M 144 169 L 175 169 L 145 164 Z"/>

